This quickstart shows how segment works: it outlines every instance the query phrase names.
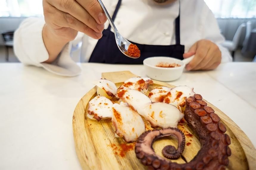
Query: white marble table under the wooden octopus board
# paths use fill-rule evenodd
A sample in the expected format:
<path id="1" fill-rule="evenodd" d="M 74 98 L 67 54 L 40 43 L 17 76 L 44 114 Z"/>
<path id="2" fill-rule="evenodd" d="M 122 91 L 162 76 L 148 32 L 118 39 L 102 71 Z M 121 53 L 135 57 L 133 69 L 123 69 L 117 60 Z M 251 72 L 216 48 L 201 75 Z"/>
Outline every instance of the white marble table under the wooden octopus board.
<path id="1" fill-rule="evenodd" d="M 20 63 L 0 64 L 0 169 L 81 169 L 72 115 L 102 72 L 143 66 L 83 63 L 78 77 L 60 77 Z M 226 113 L 256 145 L 256 63 L 222 64 L 215 71 L 185 72 L 173 85 L 194 87 Z"/>

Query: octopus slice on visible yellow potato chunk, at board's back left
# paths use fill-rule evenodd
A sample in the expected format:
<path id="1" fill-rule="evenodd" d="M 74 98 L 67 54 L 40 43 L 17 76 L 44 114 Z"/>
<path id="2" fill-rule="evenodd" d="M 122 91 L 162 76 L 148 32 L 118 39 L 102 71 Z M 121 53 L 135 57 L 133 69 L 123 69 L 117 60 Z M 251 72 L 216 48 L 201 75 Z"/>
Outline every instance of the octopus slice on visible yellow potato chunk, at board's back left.
<path id="1" fill-rule="evenodd" d="M 98 87 L 97 94 L 100 96 L 105 96 L 107 98 L 112 98 L 115 96 L 117 88 L 115 83 L 107 79 L 100 79 L 94 82 Z"/>

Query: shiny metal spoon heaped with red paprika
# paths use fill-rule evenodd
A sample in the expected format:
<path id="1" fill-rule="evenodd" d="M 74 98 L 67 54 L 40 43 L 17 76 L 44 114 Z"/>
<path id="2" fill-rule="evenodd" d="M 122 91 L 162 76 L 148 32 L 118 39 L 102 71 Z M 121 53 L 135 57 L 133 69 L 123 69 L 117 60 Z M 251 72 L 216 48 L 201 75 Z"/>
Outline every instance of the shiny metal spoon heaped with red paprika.
<path id="1" fill-rule="evenodd" d="M 114 33 L 115 33 L 115 42 L 116 42 L 116 45 L 117 47 L 119 48 L 119 50 L 124 54 L 126 55 L 127 57 L 129 58 L 135 58 L 135 57 L 131 57 L 128 54 L 128 47 L 130 43 L 127 39 L 125 39 L 123 36 L 121 36 L 121 34 L 118 32 L 117 28 L 115 27 L 115 24 L 113 22 L 113 20 L 111 19 L 109 13 L 107 12 L 107 9 L 105 8 L 104 4 L 102 3 L 101 0 L 98 0 L 99 4 L 101 5 L 103 11 L 105 12 L 106 14 L 106 17 L 107 17 L 107 20 L 109 21 L 111 27 L 113 28 L 114 30 Z"/>

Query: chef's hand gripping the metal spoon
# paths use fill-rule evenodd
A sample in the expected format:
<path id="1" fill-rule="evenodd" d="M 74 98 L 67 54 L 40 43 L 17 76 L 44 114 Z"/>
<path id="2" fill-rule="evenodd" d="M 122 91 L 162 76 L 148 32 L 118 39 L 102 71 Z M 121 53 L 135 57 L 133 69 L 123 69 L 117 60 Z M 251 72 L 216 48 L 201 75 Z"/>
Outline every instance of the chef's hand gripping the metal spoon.
<path id="1" fill-rule="evenodd" d="M 107 20 L 97 0 L 43 0 L 43 13 L 45 27 L 67 42 L 78 31 L 100 39 Z"/>

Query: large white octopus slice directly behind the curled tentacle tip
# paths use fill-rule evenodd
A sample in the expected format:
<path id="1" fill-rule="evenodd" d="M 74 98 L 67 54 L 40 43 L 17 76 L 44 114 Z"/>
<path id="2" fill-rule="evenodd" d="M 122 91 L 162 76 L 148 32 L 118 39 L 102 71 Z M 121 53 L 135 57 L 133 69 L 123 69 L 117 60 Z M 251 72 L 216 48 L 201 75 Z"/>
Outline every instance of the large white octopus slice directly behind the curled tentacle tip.
<path id="1" fill-rule="evenodd" d="M 145 117 L 152 127 L 177 127 L 178 121 L 182 119 L 183 114 L 177 107 L 162 103 L 146 103 L 138 109 L 138 113 Z"/>

